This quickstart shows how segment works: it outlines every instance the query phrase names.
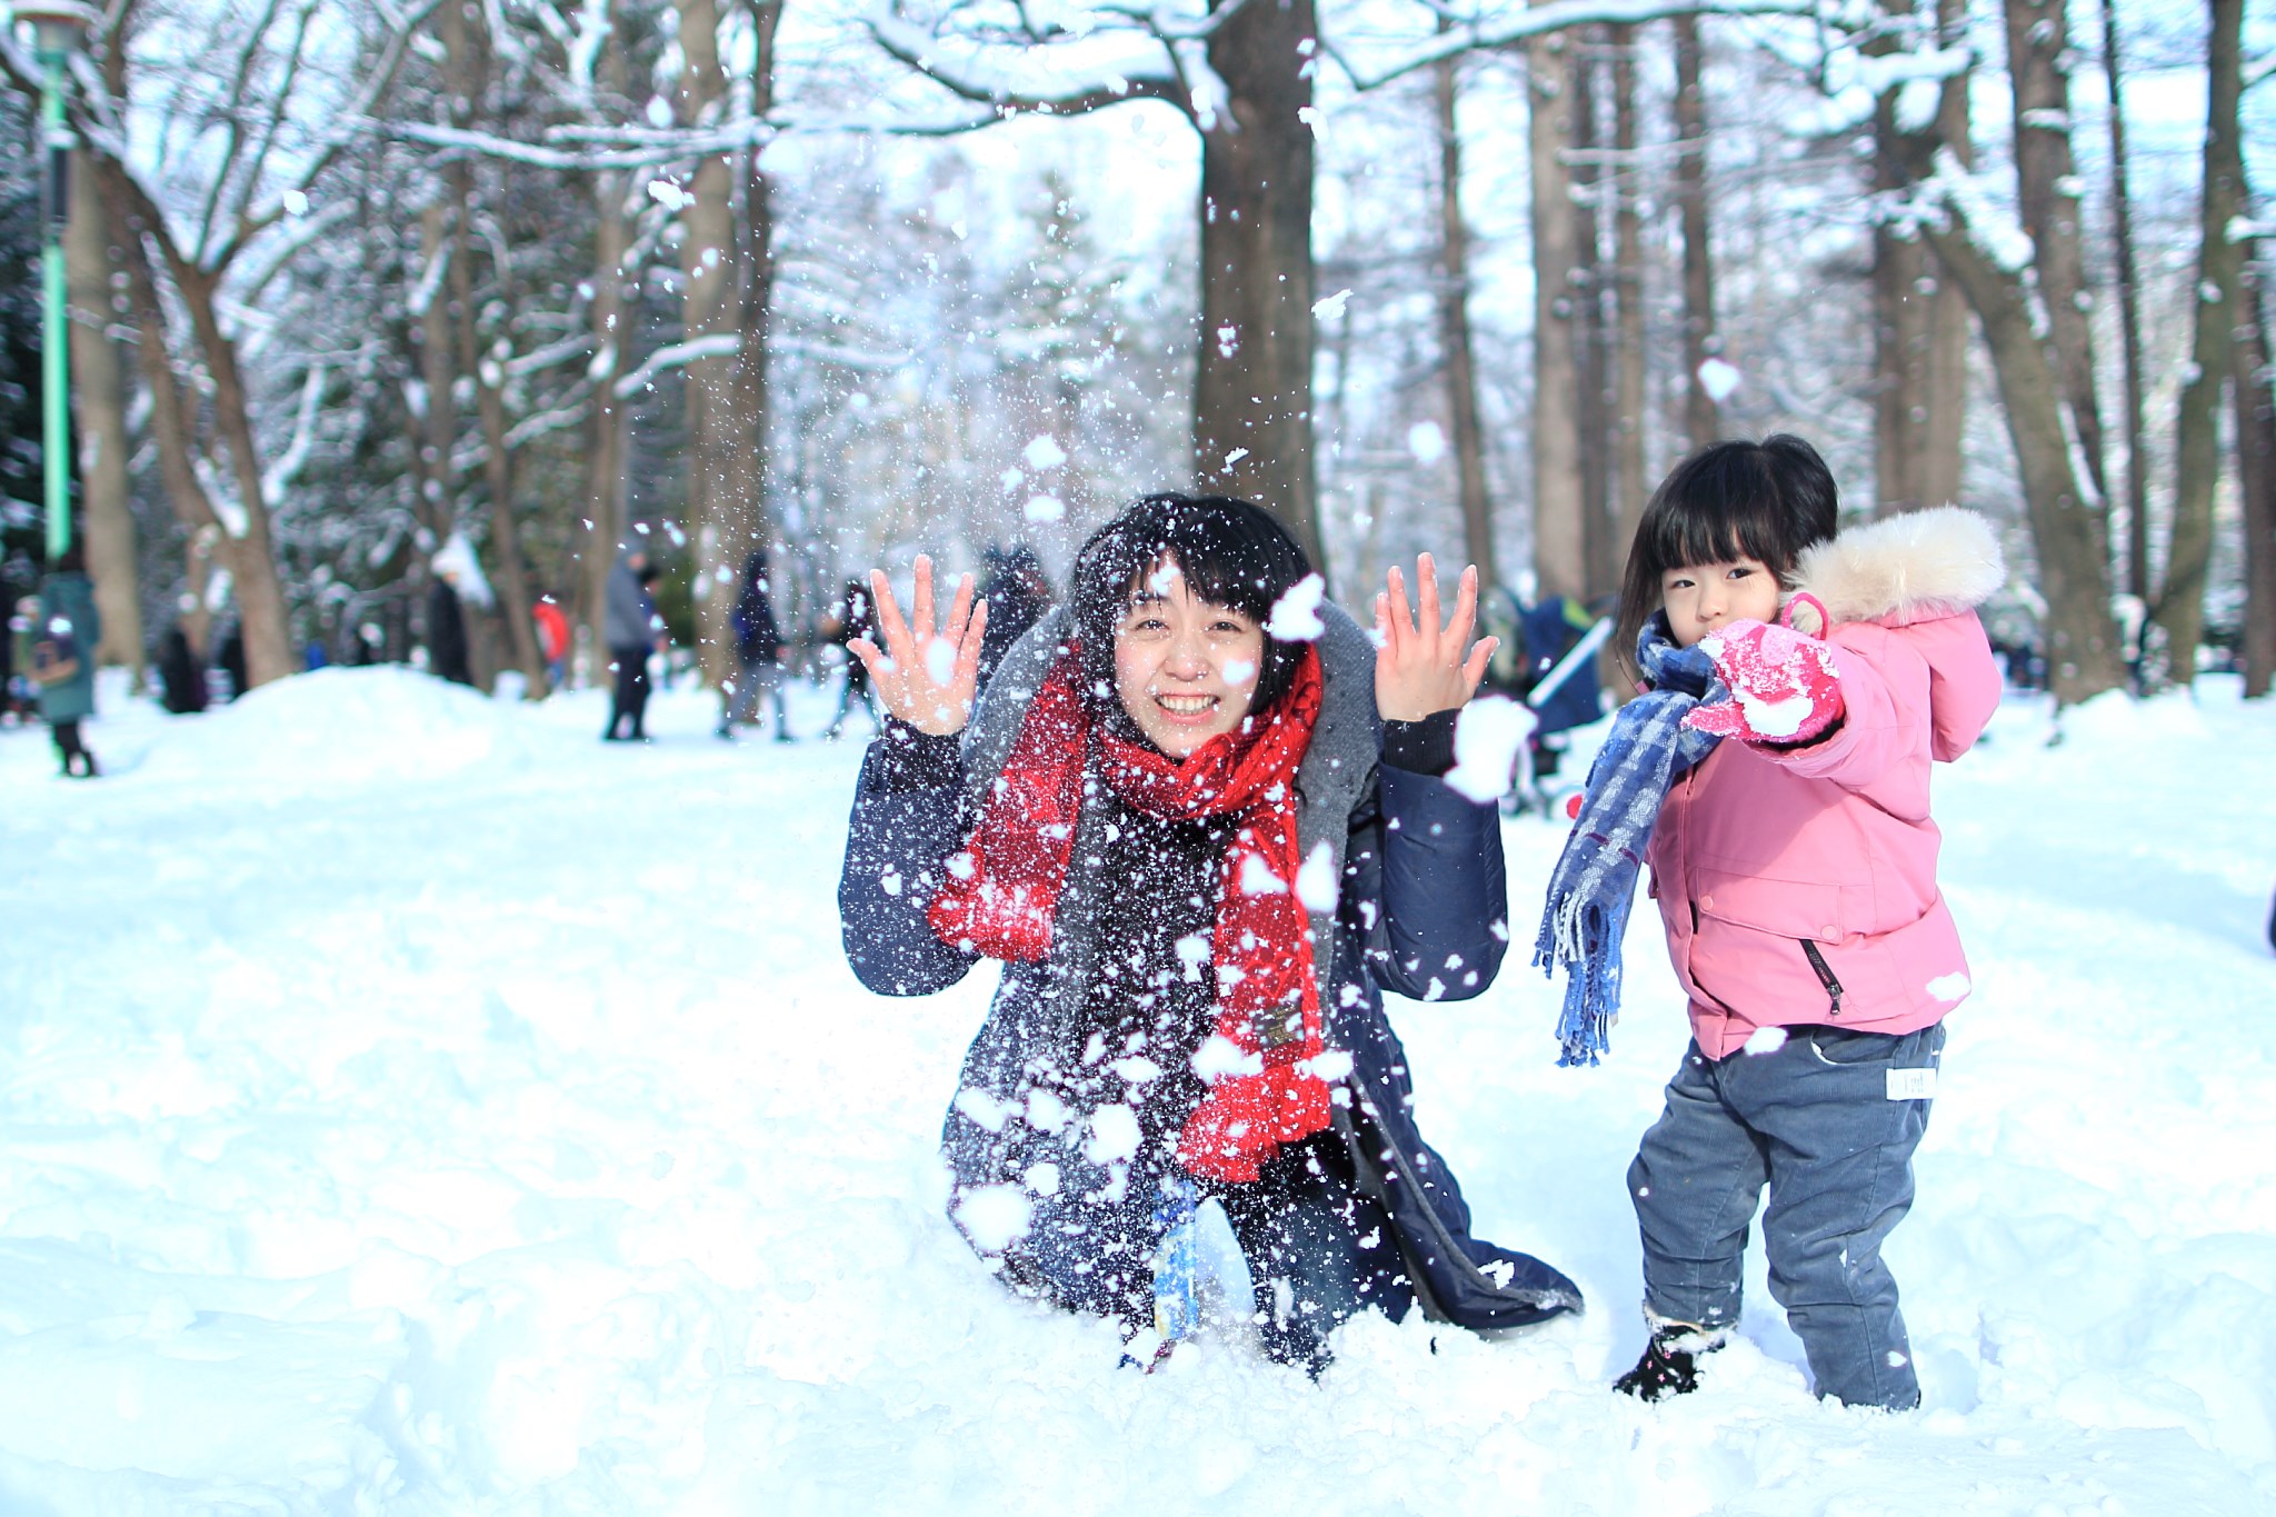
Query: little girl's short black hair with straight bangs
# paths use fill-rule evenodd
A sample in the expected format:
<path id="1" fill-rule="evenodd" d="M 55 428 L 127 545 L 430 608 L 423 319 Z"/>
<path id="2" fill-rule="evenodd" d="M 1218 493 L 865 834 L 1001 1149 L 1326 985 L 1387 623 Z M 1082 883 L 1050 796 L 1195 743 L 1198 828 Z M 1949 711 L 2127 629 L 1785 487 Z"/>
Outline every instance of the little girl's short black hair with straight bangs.
<path id="1" fill-rule="evenodd" d="M 1803 548 L 1832 537 L 1839 514 L 1834 475 L 1800 437 L 1709 444 L 1687 457 L 1636 521 L 1611 641 L 1621 664 L 1634 664 L 1636 632 L 1659 610 L 1666 571 L 1750 557 L 1789 585 Z"/>

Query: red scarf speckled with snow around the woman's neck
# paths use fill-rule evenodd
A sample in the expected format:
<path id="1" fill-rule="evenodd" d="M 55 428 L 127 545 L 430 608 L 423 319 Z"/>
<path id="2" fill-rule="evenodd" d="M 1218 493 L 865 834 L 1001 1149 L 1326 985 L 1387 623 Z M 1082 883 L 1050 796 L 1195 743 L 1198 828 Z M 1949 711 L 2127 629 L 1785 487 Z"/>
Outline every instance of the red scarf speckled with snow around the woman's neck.
<path id="1" fill-rule="evenodd" d="M 1040 960 L 1074 857 L 1083 805 L 1090 714 L 1077 694 L 1081 655 L 1052 664 L 1026 710 L 965 851 L 933 896 L 942 942 L 999 960 Z M 1102 730 L 1104 778 L 1154 816 L 1236 819 L 1224 851 L 1211 962 L 1218 973 L 1215 1037 L 1231 1044 L 1204 1069 L 1209 1096 L 1177 1139 L 1179 1162 L 1215 1180 L 1254 1180 L 1281 1144 L 1329 1124 L 1327 1083 L 1311 1071 L 1325 1051 L 1313 932 L 1295 894 L 1302 867 L 1295 769 L 1320 716 L 1320 655 L 1304 650 L 1295 685 L 1270 716 L 1202 744 L 1186 762 Z"/>

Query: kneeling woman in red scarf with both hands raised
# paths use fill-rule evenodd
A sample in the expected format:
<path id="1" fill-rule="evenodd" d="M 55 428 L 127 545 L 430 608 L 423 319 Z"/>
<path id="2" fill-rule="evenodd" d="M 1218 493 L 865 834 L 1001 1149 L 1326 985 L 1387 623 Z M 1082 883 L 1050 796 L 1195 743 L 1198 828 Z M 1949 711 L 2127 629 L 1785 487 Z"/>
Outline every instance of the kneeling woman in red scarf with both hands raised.
<path id="1" fill-rule="evenodd" d="M 1577 1310 L 1559 1271 L 1470 1237 L 1382 1008 L 1484 992 L 1509 942 L 1495 807 L 1441 778 L 1493 650 L 1468 648 L 1475 571 L 1441 625 L 1425 557 L 1418 625 L 1393 569 L 1377 650 L 1268 512 L 1152 496 L 976 710 L 972 580 L 938 625 L 929 559 L 906 619 L 872 587 L 883 648 L 853 650 L 890 721 L 838 905 L 881 994 L 1004 960 L 942 1128 L 972 1246 L 1024 1294 L 1152 1326 L 1158 1356 L 1218 1237 L 1265 1351 L 1313 1374 L 1363 1308 Z"/>

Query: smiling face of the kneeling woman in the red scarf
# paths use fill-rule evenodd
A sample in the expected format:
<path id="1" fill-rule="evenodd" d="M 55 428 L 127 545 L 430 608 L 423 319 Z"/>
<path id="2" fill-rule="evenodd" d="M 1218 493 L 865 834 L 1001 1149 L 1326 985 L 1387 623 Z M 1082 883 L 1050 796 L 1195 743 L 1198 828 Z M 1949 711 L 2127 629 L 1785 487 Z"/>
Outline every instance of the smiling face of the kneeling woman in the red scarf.
<path id="1" fill-rule="evenodd" d="M 1165 559 L 1115 625 L 1115 696 L 1156 748 L 1184 760 L 1250 714 L 1263 657 L 1263 628 L 1188 591 Z"/>

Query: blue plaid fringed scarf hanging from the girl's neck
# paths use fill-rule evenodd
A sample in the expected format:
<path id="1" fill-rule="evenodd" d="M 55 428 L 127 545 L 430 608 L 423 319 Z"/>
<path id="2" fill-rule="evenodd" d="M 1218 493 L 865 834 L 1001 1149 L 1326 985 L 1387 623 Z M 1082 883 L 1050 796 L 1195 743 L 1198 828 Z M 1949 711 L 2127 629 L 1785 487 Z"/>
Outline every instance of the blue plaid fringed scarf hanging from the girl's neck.
<path id="1" fill-rule="evenodd" d="M 1621 1010 L 1621 937 L 1636 901 L 1636 869 L 1659 823 L 1659 803 L 1668 798 L 1675 776 L 1721 741 L 1682 726 L 1684 712 L 1730 698 L 1714 660 L 1668 639 L 1666 616 L 1652 616 L 1636 635 L 1636 669 L 1650 689 L 1611 719 L 1611 737 L 1589 766 L 1589 798 L 1550 876 L 1534 939 L 1534 962 L 1543 973 L 1555 978 L 1559 964 L 1573 969 L 1564 1017 L 1557 1019 L 1564 1044 L 1559 1064 L 1595 1064 L 1609 1048 L 1605 1035 Z"/>

